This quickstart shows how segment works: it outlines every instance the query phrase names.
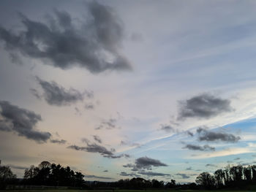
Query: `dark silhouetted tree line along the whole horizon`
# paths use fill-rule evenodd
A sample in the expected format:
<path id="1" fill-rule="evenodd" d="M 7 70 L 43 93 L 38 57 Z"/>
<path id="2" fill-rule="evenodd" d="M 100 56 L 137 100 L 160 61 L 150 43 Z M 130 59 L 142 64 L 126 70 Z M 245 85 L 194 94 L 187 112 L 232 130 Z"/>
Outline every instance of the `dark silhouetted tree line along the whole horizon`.
<path id="1" fill-rule="evenodd" d="M 256 185 L 256 166 L 227 166 L 217 169 L 214 174 L 202 172 L 196 177 L 195 183 L 177 184 L 158 180 L 145 180 L 141 177 L 118 180 L 116 182 L 86 181 L 81 172 L 70 169 L 69 166 L 50 164 L 42 161 L 38 166 L 30 166 L 24 172 L 23 179 L 17 179 L 10 166 L 1 166 L 0 161 L 0 189 L 7 185 L 47 185 L 68 186 L 72 188 L 102 189 L 147 189 L 147 188 L 176 188 L 176 189 L 222 189 L 246 188 Z"/>

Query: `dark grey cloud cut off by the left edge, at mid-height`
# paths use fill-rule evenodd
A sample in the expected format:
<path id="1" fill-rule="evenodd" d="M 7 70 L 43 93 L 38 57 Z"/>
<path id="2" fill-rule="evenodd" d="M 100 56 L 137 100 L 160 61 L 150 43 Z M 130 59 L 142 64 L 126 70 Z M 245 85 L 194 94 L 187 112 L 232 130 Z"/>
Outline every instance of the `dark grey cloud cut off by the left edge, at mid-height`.
<path id="1" fill-rule="evenodd" d="M 42 120 L 40 115 L 10 104 L 8 101 L 0 101 L 0 130 L 13 131 L 21 137 L 42 143 L 50 139 L 49 132 L 36 129 L 37 123 Z"/>

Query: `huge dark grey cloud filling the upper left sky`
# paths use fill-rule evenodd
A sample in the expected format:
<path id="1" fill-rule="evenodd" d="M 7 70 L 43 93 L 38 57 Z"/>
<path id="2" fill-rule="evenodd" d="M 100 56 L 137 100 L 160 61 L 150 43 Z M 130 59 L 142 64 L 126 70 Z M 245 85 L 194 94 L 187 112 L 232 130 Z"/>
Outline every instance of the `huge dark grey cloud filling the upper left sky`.
<path id="1" fill-rule="evenodd" d="M 19 14 L 23 30 L 0 26 L 0 40 L 15 60 L 23 55 L 61 69 L 80 66 L 92 73 L 131 70 L 129 61 L 120 53 L 124 26 L 116 13 L 97 1 L 89 2 L 87 10 L 85 20 L 55 10 L 45 23 Z"/>

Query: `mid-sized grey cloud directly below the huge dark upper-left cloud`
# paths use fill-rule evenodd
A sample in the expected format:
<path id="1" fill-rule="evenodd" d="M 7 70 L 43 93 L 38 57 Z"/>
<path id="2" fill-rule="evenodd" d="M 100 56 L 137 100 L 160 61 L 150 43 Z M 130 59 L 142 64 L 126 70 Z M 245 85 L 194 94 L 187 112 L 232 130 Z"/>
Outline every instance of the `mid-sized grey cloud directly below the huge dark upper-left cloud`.
<path id="1" fill-rule="evenodd" d="M 56 82 L 47 82 L 41 80 L 39 77 L 36 77 L 36 79 L 44 92 L 41 97 L 44 98 L 45 101 L 47 101 L 47 103 L 50 105 L 70 105 L 78 101 L 83 101 L 85 97 L 90 99 L 94 96 L 94 93 L 90 91 L 80 93 L 80 91 L 76 90 L 75 88 L 69 88 L 67 90 L 61 87 L 61 85 L 58 85 Z M 35 96 L 38 97 L 37 95 Z"/>

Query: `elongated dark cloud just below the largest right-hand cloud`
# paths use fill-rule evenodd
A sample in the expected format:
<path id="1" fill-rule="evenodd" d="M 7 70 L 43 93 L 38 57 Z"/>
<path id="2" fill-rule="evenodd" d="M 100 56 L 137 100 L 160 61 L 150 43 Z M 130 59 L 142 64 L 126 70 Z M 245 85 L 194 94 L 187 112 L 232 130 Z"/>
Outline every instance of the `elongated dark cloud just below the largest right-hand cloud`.
<path id="1" fill-rule="evenodd" d="M 225 132 L 208 131 L 206 128 L 197 128 L 197 134 L 199 134 L 199 141 L 221 141 L 221 142 L 238 142 L 241 137 L 236 137 L 233 134 L 227 134 Z"/>

